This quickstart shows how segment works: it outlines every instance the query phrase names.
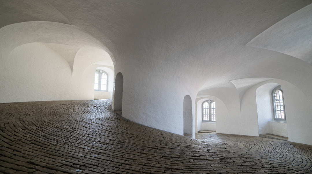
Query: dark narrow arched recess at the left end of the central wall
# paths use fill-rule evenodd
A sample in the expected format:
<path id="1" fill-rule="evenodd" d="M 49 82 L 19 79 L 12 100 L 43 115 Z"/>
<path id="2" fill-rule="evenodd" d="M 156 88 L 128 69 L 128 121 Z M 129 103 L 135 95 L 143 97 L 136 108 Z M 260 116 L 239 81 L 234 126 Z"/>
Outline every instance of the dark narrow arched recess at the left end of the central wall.
<path id="1" fill-rule="evenodd" d="M 113 110 L 122 111 L 122 91 L 123 91 L 123 75 L 121 72 L 117 73 L 115 78 L 115 87 L 114 87 L 114 101 L 113 101 Z"/>

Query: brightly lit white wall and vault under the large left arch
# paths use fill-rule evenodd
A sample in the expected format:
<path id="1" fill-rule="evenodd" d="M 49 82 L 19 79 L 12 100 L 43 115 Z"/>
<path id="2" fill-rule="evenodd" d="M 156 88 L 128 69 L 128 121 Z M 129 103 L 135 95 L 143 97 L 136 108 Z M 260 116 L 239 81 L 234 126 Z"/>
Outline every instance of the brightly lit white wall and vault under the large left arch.
<path id="1" fill-rule="evenodd" d="M 0 38 L 1 103 L 94 99 L 89 66 L 113 69 L 99 42 L 71 25 L 22 22 L 1 28 Z"/>

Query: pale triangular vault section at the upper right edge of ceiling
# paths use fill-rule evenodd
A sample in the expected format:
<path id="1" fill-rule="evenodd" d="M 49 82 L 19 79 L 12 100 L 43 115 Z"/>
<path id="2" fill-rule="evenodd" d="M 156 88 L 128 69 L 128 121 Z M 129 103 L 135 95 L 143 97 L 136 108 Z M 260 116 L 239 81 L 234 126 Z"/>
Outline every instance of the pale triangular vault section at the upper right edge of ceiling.
<path id="1" fill-rule="evenodd" d="M 278 51 L 312 64 L 312 4 L 256 36 L 247 46 Z"/>

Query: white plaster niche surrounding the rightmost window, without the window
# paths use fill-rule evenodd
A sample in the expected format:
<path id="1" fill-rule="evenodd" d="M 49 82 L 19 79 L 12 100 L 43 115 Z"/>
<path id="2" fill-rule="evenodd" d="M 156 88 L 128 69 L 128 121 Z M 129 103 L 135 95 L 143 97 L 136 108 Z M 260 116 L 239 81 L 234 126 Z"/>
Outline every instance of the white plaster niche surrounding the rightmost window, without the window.
<path id="1" fill-rule="evenodd" d="M 256 89 L 259 134 L 270 133 L 288 137 L 287 123 L 274 121 L 272 90 L 277 86 L 280 84 L 266 83 Z"/>

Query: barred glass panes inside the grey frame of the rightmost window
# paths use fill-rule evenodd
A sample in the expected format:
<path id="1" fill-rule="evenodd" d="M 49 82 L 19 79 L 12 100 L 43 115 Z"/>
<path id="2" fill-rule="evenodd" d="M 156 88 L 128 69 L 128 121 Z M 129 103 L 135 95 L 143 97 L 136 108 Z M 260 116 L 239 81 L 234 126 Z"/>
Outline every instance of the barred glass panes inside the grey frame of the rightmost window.
<path id="1" fill-rule="evenodd" d="M 273 93 L 274 117 L 285 119 L 283 93 L 281 90 L 276 90 Z"/>

